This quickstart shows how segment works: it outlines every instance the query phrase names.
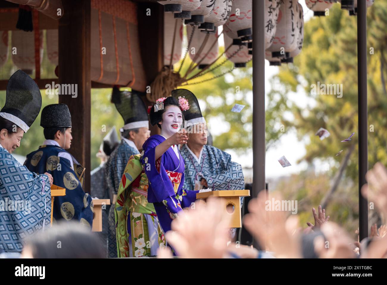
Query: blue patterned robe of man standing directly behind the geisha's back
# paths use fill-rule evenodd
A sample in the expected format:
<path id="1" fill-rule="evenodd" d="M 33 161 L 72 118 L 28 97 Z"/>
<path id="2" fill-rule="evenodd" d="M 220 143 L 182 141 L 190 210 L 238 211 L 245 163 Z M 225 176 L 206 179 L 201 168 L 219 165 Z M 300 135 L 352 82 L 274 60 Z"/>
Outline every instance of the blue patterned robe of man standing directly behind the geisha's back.
<path id="1" fill-rule="evenodd" d="M 139 154 L 140 152 L 134 147 L 128 145 L 125 140 L 121 140 L 120 144 L 110 154 L 108 161 L 105 164 L 105 181 L 108 187 L 111 207 L 109 209 L 109 226 L 108 226 L 108 258 L 117 257 L 117 240 L 116 240 L 116 222 L 114 216 L 114 195 L 118 192 L 122 174 L 128 163 L 130 155 Z"/>

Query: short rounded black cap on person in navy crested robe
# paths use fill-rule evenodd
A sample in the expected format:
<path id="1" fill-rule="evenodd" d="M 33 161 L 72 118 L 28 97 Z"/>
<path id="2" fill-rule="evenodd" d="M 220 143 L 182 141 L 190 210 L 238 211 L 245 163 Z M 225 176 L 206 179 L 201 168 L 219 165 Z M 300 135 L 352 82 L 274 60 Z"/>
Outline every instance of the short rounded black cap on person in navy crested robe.
<path id="1" fill-rule="evenodd" d="M 71 114 L 66 104 L 50 104 L 43 108 L 40 116 L 43 128 L 71 128 Z"/>

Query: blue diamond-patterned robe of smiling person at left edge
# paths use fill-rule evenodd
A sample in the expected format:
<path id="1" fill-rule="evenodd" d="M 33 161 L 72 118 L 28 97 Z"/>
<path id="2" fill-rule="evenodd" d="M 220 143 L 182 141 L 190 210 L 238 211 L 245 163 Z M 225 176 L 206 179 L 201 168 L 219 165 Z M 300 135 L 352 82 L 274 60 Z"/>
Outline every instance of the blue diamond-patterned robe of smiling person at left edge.
<path id="1" fill-rule="evenodd" d="M 28 171 L 0 147 L 0 249 L 21 252 L 24 238 L 50 227 L 50 219 L 48 176 Z"/>

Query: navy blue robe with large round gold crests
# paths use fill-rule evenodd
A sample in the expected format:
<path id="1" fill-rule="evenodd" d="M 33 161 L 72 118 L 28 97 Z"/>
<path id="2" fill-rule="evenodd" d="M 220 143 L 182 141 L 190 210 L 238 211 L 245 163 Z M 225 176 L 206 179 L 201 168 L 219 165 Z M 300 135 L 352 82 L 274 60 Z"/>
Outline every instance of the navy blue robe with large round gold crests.
<path id="1" fill-rule="evenodd" d="M 55 221 L 59 219 L 78 220 L 81 225 L 91 229 L 93 203 L 89 193 L 85 193 L 82 189 L 84 168 L 74 158 L 73 161 L 69 161 L 64 157 L 59 157 L 61 152 L 66 152 L 66 150 L 57 145 L 41 145 L 38 150 L 27 155 L 24 165 L 36 173 L 50 173 L 54 179 L 54 185 L 66 188 L 65 196 L 54 199 L 53 218 Z"/>

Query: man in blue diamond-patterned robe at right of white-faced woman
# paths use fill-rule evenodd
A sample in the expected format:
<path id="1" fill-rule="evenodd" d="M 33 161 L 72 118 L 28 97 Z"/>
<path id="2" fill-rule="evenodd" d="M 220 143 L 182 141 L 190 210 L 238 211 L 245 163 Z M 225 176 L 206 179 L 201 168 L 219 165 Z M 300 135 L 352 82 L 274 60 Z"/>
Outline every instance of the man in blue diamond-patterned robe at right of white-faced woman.
<path id="1" fill-rule="evenodd" d="M 183 188 L 187 190 L 242 190 L 245 188 L 242 167 L 231 161 L 231 155 L 207 145 L 207 126 L 193 93 L 185 98 L 190 109 L 184 111 L 187 144 L 180 153 L 185 162 Z"/>

